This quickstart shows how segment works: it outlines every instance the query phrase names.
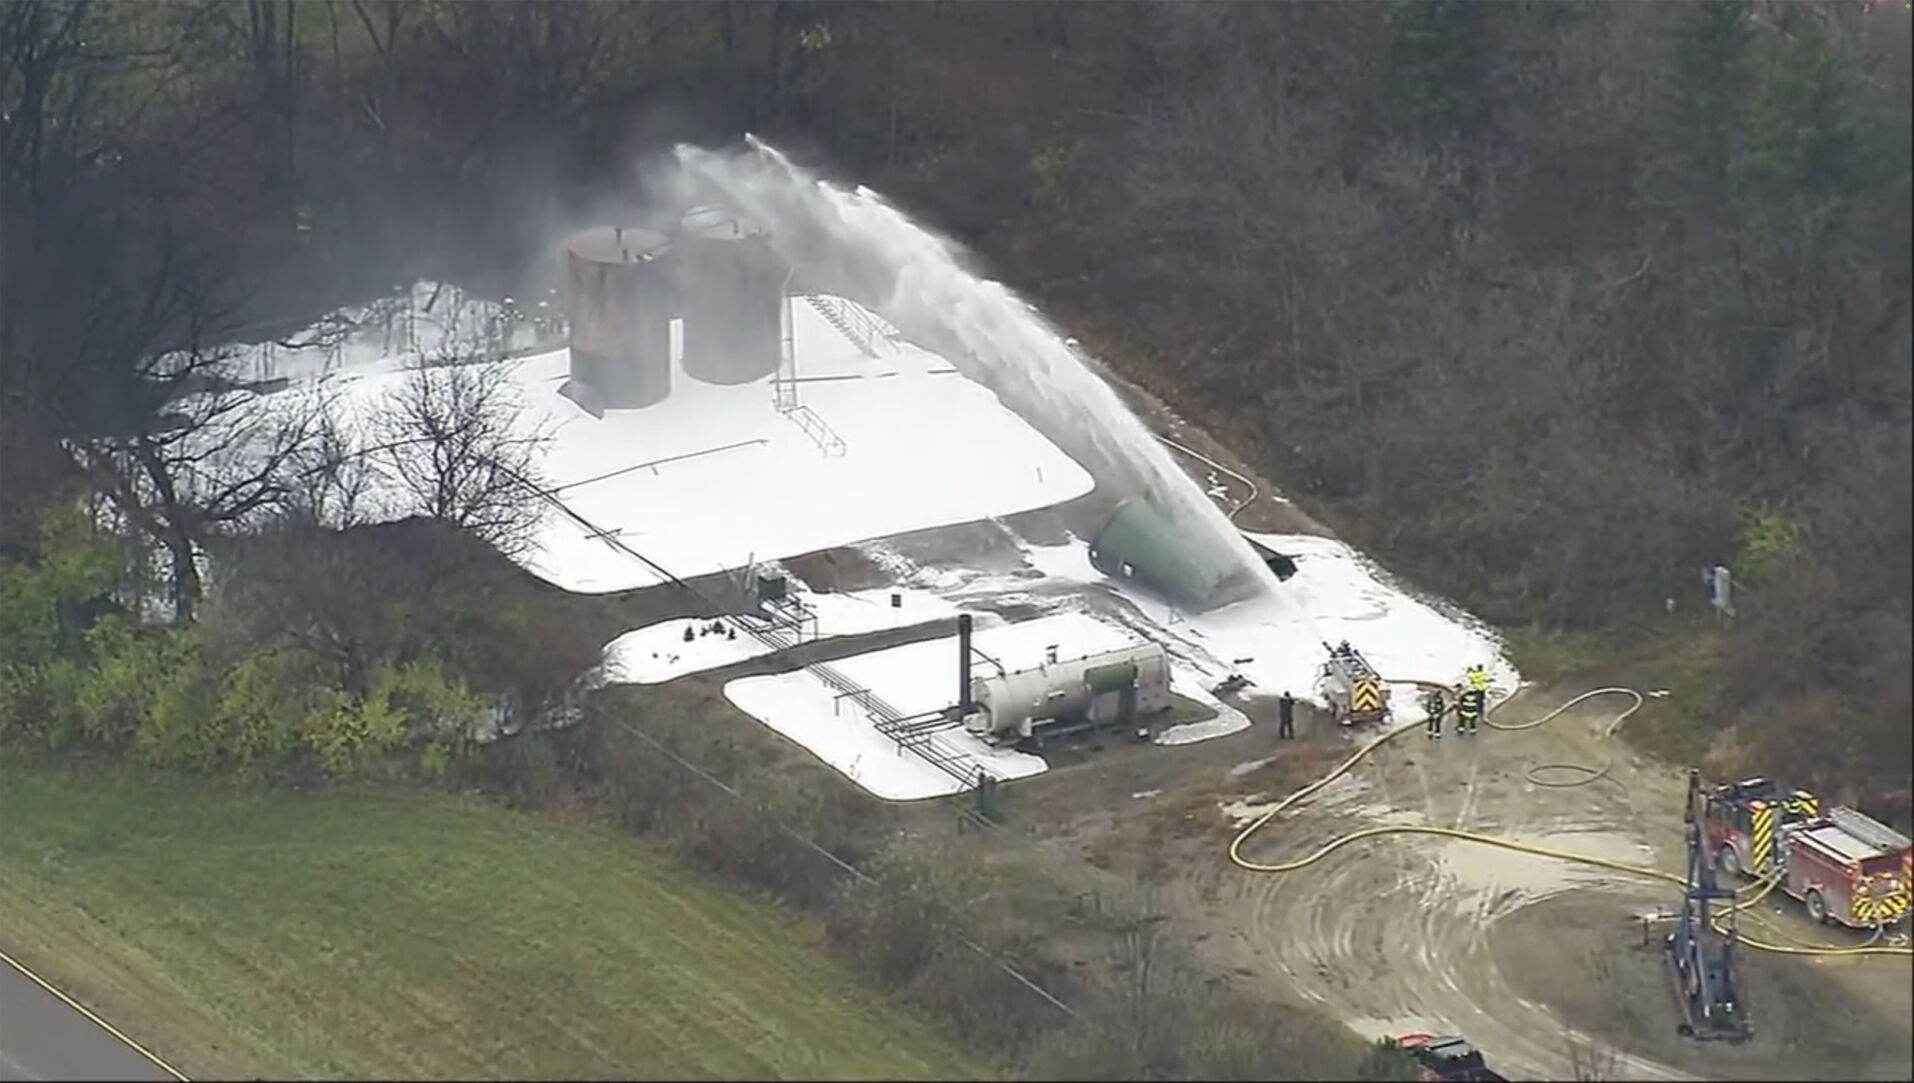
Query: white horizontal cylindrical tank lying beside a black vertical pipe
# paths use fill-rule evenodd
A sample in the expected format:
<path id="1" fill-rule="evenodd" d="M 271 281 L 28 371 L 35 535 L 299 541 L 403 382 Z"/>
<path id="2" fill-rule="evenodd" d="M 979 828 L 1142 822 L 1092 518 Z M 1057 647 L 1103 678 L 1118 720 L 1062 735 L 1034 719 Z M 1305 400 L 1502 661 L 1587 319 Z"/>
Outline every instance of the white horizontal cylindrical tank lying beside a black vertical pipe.
<path id="1" fill-rule="evenodd" d="M 986 714 L 986 735 L 1030 737 L 1039 721 L 1087 716 L 1091 700 L 1116 691 L 1114 675 L 1135 689 L 1137 714 L 1169 706 L 1169 654 L 1162 643 L 1137 643 L 1085 658 L 978 677 L 970 683 L 970 698 Z"/>

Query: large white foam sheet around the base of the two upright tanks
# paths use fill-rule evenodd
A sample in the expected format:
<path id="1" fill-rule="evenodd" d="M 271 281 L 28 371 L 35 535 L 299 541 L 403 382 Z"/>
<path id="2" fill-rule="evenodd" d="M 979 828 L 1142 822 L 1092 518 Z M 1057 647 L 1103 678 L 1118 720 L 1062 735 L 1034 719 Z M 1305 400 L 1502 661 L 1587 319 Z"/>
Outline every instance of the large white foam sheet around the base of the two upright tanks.
<path id="1" fill-rule="evenodd" d="M 850 302 L 842 302 L 850 304 Z M 947 362 L 907 343 L 867 358 L 804 300 L 792 300 L 802 402 L 844 440 L 819 446 L 771 404 L 769 377 L 699 383 L 674 365 L 672 394 L 593 419 L 565 396 L 570 352 L 500 362 L 524 432 L 545 432 L 542 471 L 567 509 L 679 578 L 796 557 L 871 538 L 1049 507 L 1091 490 L 1089 473 Z M 323 377 L 329 409 L 366 444 L 408 379 L 394 358 Z M 266 396 L 297 402 L 295 396 Z M 367 507 L 381 507 L 375 492 Z M 385 499 L 389 517 L 402 505 Z M 662 576 L 549 511 L 526 564 L 582 593 Z"/>

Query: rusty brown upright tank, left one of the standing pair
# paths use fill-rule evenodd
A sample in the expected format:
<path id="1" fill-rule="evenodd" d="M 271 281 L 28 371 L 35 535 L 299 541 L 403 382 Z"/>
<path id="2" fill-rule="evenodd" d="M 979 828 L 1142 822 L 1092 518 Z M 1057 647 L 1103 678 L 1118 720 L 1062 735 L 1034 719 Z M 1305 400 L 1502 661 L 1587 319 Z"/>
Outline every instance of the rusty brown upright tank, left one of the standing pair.
<path id="1" fill-rule="evenodd" d="M 572 379 L 609 409 L 672 394 L 670 243 L 649 230 L 599 226 L 565 243 Z"/>

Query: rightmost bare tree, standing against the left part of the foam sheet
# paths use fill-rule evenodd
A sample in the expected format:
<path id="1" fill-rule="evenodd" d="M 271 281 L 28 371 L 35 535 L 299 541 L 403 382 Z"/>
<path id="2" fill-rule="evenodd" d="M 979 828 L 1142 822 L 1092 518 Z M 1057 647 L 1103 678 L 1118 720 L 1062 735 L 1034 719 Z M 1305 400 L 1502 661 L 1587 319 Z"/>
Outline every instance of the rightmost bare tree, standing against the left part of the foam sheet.
<path id="1" fill-rule="evenodd" d="M 538 452 L 549 434 L 523 423 L 503 365 L 459 362 L 452 350 L 412 369 L 377 421 L 377 463 L 396 511 L 448 522 L 515 557 L 547 511 Z"/>

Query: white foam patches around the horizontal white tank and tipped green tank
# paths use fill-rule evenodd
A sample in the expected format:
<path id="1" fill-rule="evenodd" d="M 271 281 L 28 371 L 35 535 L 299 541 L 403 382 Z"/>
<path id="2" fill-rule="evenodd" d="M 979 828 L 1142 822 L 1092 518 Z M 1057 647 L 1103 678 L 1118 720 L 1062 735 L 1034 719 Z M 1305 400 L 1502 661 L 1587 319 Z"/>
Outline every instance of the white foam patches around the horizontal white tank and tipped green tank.
<path id="1" fill-rule="evenodd" d="M 1007 666 L 1034 664 L 1047 645 L 1057 645 L 1060 656 L 1081 656 L 1108 651 L 1146 635 L 1164 643 L 1171 654 L 1171 691 L 1210 706 L 1217 716 L 1206 721 L 1169 727 L 1154 737 L 1158 744 L 1185 744 L 1225 737 L 1246 729 L 1250 719 L 1236 708 L 1217 700 L 1210 687 L 1231 674 L 1250 677 L 1252 695 L 1279 695 L 1288 689 L 1298 698 L 1321 702 L 1315 689 L 1323 664 L 1323 641 L 1347 639 L 1390 679 L 1397 681 L 1457 681 L 1472 664 L 1489 666 L 1497 685 L 1514 687 L 1518 674 L 1501 658 L 1491 633 L 1466 620 L 1445 616 L 1432 605 L 1411 597 L 1384 572 L 1347 545 L 1313 536 L 1259 534 L 1259 542 L 1296 557 L 1296 574 L 1284 584 L 1292 589 L 1286 603 L 1242 603 L 1210 614 L 1185 616 L 1162 601 L 1133 591 L 1127 584 L 1106 580 L 1089 564 L 1087 545 L 1072 540 L 1064 545 L 1034 545 L 1026 549 L 1028 568 L 1018 574 L 974 574 L 944 568 L 913 568 L 882 543 L 865 545 L 892 574 L 909 582 L 907 607 L 917 612 L 944 616 L 959 607 L 986 599 L 1049 605 L 1051 616 L 976 635 L 984 651 L 1007 649 Z M 1041 591 L 1041 586 L 1074 589 Z M 1083 587 L 1101 587 L 1122 599 L 1110 618 L 1083 612 L 1091 603 Z M 869 591 L 888 597 L 888 591 Z M 823 612 L 836 603 L 833 595 L 817 595 L 819 624 Z M 861 595 L 859 595 L 861 597 Z M 949 608 L 934 608 L 928 601 L 942 599 Z M 846 601 L 846 607 L 863 603 Z M 1127 608 L 1127 612 L 1124 612 Z M 852 620 L 852 612 L 836 620 Z M 988 620 L 988 614 L 980 616 Z M 1122 622 L 1122 628 L 1114 622 Z M 683 622 L 668 622 L 647 630 L 645 641 L 670 649 L 672 630 L 681 639 Z M 741 637 L 743 639 L 743 637 Z M 639 643 L 632 639 L 628 643 Z M 991 645 L 999 647 L 991 647 Z M 626 647 L 628 651 L 630 647 Z M 643 662 L 643 679 L 670 679 L 704 668 L 743 660 L 725 651 L 752 647 L 712 647 L 678 652 Z M 714 651 L 701 654 L 699 651 Z M 896 647 L 875 654 L 859 654 L 833 664 L 835 670 L 890 700 L 903 714 L 947 706 L 957 693 L 957 656 L 951 639 L 936 639 Z M 624 677 L 641 679 L 641 677 Z M 877 796 L 913 800 L 949 794 L 961 788 L 949 775 L 923 760 L 898 754 L 898 746 L 871 727 L 861 710 L 842 704 L 815 677 L 794 672 L 775 677 L 743 677 L 725 685 L 725 696 L 746 714 L 810 748 L 846 777 Z M 1414 687 L 1397 685 L 1393 710 L 1397 721 L 1420 718 Z M 1037 756 L 990 752 L 968 737 L 953 740 L 965 752 L 976 752 L 974 763 L 1007 779 L 1022 779 L 1045 769 Z M 879 756 L 882 752 L 882 756 Z"/>

